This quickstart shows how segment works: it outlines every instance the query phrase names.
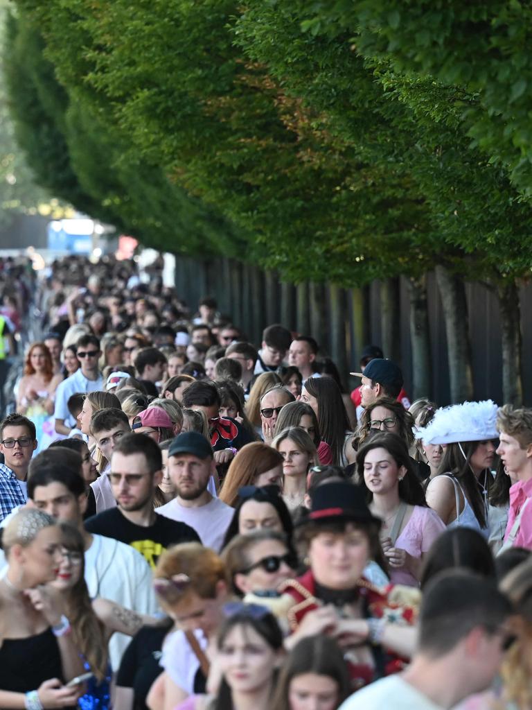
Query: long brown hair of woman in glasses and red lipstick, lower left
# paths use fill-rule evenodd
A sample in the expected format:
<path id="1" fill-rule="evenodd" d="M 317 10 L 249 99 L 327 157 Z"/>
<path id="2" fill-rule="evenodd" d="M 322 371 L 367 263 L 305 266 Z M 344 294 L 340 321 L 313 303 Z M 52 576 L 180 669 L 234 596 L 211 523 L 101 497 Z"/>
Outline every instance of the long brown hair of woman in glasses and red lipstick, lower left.
<path id="1" fill-rule="evenodd" d="M 79 579 L 66 596 L 67 617 L 72 627 L 74 645 L 91 667 L 96 679 L 101 682 L 108 673 L 109 657 L 104 626 L 94 613 L 87 584 L 85 584 L 85 545 L 77 528 L 68 523 L 60 523 L 62 545 L 69 552 L 81 555 L 82 564 Z"/>

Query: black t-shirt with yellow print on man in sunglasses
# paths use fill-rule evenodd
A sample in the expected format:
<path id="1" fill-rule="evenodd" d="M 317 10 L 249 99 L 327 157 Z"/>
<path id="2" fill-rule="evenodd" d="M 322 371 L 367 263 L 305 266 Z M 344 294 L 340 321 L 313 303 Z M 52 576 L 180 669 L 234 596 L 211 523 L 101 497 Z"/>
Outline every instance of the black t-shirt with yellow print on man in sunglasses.
<path id="1" fill-rule="evenodd" d="M 201 542 L 196 530 L 186 523 L 179 523 L 155 513 L 155 524 L 145 528 L 143 525 L 131 523 L 119 508 L 110 508 L 93 515 L 85 520 L 85 529 L 131 545 L 145 557 L 150 567 L 155 567 L 162 552 L 171 545 L 177 545 L 179 542 Z"/>

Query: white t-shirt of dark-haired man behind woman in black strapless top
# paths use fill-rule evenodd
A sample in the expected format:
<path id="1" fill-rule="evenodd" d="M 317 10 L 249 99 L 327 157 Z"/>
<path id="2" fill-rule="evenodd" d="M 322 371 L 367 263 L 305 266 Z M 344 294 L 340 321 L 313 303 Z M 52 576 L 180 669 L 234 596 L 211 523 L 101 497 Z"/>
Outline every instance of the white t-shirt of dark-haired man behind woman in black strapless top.
<path id="1" fill-rule="evenodd" d="M 155 614 L 159 609 L 152 586 L 152 572 L 140 552 L 112 537 L 93 535 L 85 552 L 85 581 L 91 599 L 111 599 L 141 614 Z M 131 636 L 113 633 L 109 657 L 118 670 Z"/>

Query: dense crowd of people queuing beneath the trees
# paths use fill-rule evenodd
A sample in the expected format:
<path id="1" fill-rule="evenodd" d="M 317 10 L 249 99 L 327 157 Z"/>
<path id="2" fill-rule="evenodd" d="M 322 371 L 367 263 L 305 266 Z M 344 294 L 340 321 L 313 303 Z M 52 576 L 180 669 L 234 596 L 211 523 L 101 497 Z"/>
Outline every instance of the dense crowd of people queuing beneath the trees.
<path id="1" fill-rule="evenodd" d="M 526 710 L 532 410 L 55 261 L 0 422 L 0 706 Z"/>

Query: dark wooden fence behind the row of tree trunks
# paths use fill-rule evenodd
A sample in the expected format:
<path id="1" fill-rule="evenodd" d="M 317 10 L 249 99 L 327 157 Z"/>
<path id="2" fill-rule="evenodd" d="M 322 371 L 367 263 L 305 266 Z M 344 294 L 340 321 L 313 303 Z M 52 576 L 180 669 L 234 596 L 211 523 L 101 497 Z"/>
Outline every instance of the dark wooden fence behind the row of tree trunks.
<path id="1" fill-rule="evenodd" d="M 277 275 L 255 266 L 212 259 L 178 258 L 177 290 L 195 308 L 199 298 L 211 295 L 224 314 L 231 315 L 248 338 L 260 344 L 262 329 L 275 322 L 301 334 L 310 334 L 330 355 L 349 388 L 358 380 L 348 376 L 358 370 L 365 344 L 383 347 L 403 368 L 406 389 L 412 393 L 409 293 L 406 280 L 391 285 L 378 281 L 360 289 L 331 284 L 279 282 Z M 386 286 L 386 288 L 383 288 Z M 445 322 L 436 279 L 428 275 L 428 322 L 431 342 L 431 396 L 448 404 L 449 372 Z M 466 284 L 475 398 L 502 403 L 501 332 L 497 295 L 478 283 Z M 390 296 L 391 294 L 391 296 Z M 524 403 L 532 403 L 532 289 L 521 288 L 523 331 Z M 421 395 L 422 393 L 417 393 Z"/>

